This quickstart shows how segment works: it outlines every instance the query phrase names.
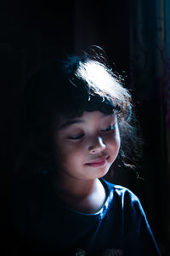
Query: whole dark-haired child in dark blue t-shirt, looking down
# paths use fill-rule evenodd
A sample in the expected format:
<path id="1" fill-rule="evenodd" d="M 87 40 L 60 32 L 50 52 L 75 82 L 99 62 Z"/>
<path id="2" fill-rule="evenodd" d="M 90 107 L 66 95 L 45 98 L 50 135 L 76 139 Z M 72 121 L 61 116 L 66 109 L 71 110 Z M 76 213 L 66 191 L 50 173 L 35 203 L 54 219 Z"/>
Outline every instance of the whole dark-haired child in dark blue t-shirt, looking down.
<path id="1" fill-rule="evenodd" d="M 160 255 L 139 199 L 103 178 L 135 131 L 131 96 L 103 58 L 49 61 L 24 102 L 16 255 Z"/>

